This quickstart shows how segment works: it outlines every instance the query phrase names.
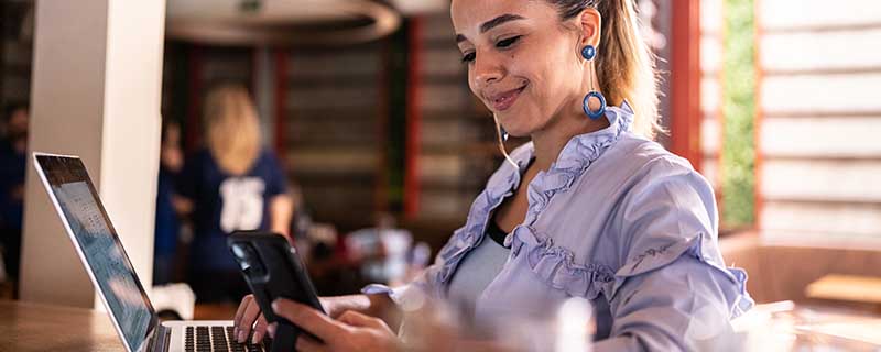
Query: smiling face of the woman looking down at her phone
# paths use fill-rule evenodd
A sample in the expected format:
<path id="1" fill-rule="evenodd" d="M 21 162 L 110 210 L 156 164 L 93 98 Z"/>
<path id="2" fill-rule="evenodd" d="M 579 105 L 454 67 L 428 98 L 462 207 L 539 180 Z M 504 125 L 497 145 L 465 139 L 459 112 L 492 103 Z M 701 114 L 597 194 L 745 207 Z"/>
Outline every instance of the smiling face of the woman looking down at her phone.
<path id="1" fill-rule="evenodd" d="M 512 135 L 578 113 L 585 64 L 577 31 L 546 1 L 454 0 L 456 41 L 468 86 Z"/>

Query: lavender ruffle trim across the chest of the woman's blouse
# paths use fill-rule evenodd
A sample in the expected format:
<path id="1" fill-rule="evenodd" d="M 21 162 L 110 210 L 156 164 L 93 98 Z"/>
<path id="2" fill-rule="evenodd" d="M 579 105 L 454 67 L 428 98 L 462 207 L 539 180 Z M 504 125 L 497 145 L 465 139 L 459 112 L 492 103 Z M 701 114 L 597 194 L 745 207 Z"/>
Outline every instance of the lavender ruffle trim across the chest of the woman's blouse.
<path id="1" fill-rule="evenodd" d="M 596 299 L 614 282 L 614 272 L 602 264 L 575 263 L 573 252 L 537 237 L 530 227 L 519 227 L 512 237 L 513 255 L 526 255 L 532 272 L 548 286 L 568 295 Z"/>

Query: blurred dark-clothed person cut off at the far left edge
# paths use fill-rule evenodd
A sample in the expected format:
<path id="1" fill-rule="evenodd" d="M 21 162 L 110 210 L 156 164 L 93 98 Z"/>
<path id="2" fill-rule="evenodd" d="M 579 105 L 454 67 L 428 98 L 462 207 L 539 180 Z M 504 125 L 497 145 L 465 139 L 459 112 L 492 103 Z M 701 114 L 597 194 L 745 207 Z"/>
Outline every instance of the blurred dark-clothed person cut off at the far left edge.
<path id="1" fill-rule="evenodd" d="M 0 252 L 7 275 L 19 275 L 24 200 L 24 168 L 28 150 L 29 109 L 11 103 L 3 113 L 4 133 L 0 141 Z"/>

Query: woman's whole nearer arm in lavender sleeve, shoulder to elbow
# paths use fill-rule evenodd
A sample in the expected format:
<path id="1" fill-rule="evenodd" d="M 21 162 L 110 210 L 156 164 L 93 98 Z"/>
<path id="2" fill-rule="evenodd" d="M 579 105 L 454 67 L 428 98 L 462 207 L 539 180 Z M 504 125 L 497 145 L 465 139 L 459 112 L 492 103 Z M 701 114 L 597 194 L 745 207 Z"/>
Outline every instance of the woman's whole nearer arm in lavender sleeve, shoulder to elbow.
<path id="1" fill-rule="evenodd" d="M 595 351 L 714 351 L 730 348 L 730 319 L 752 305 L 744 272 L 725 266 L 709 184 L 690 168 L 653 165 L 623 202 L 626 244 L 613 285 L 609 339 Z"/>

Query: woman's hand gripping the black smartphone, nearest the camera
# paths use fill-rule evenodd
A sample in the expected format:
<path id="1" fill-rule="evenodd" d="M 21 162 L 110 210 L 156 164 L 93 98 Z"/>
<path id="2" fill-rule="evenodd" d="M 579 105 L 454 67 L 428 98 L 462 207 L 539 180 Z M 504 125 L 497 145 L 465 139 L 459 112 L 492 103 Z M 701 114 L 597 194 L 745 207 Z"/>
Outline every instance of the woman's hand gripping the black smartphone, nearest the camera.
<path id="1" fill-rule="evenodd" d="M 324 342 L 306 336 L 296 340 L 297 351 L 398 351 L 394 332 L 382 319 L 347 310 L 336 320 L 312 307 L 278 299 L 272 304 L 276 315 L 311 332 Z M 274 334 L 275 324 L 269 331 Z"/>

